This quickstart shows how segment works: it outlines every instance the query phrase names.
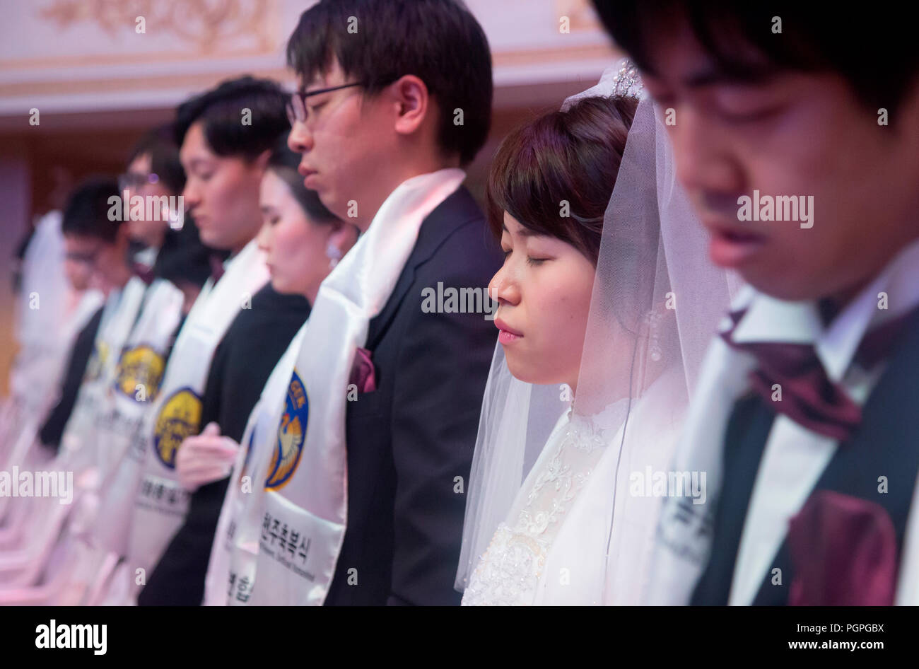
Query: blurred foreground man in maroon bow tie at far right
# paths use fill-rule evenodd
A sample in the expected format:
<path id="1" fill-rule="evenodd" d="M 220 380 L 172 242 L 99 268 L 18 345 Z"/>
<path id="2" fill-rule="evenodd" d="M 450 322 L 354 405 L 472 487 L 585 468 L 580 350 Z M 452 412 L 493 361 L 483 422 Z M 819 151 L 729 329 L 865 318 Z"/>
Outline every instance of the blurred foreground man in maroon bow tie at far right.
<path id="1" fill-rule="evenodd" d="M 870 37 L 855 52 L 848 17 L 819 4 L 594 3 L 674 121 L 677 176 L 711 259 L 752 287 L 699 375 L 737 397 L 694 400 L 706 413 L 689 421 L 679 454 L 690 470 L 719 463 L 720 490 L 709 485 L 701 505 L 667 503 L 652 583 L 698 605 L 909 602 L 907 530 L 919 527 L 912 28 L 866 13 L 859 31 Z M 743 205 L 754 201 L 751 218 Z"/>

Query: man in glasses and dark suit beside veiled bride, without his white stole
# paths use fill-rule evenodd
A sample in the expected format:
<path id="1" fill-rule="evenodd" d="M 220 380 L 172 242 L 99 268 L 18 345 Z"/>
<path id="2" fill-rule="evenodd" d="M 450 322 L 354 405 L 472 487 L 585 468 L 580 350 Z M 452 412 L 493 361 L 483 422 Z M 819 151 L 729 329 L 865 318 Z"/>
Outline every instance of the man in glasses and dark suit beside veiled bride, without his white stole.
<path id="1" fill-rule="evenodd" d="M 362 231 L 404 181 L 462 168 L 485 142 L 491 55 L 453 0 L 323 0 L 302 15 L 288 61 L 300 80 L 289 145 L 305 184 Z M 465 486 L 496 331 L 487 294 L 479 313 L 428 312 L 423 294 L 438 282 L 483 293 L 500 264 L 460 186 L 426 216 L 370 321 L 376 390 L 347 403 L 347 528 L 325 604 L 459 604 Z"/>

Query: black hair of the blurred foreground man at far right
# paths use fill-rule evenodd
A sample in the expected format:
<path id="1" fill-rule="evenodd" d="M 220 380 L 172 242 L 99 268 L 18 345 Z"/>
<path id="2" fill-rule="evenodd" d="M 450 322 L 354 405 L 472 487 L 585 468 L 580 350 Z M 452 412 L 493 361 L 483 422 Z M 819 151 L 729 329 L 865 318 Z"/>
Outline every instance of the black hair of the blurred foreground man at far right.
<path id="1" fill-rule="evenodd" d="M 737 0 L 593 0 L 618 45 L 641 69 L 653 72 L 656 28 L 683 20 L 721 72 L 755 82 L 781 71 L 835 72 L 870 110 L 893 110 L 919 74 L 913 23 L 895 11 L 864 7 L 856 15 L 843 6 L 800 0 L 770 3 Z M 782 20 L 772 32 L 773 17 Z M 738 47 L 753 47 L 762 62 Z"/>

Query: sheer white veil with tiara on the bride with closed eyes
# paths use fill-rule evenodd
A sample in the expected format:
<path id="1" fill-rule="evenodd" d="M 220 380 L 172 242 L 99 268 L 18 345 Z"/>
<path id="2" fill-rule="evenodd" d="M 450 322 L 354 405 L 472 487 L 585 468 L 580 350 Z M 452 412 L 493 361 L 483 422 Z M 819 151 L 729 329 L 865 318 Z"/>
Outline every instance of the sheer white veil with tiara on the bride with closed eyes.
<path id="1" fill-rule="evenodd" d="M 570 402 L 564 388 L 516 380 L 502 346 L 495 347 L 472 460 L 458 590 L 470 583 L 552 427 L 570 409 L 573 424 L 593 425 L 602 415 L 604 426 L 618 426 L 603 444 L 615 450 L 605 451 L 601 462 L 607 464 L 597 466 L 594 479 L 601 469 L 606 473 L 591 482 L 591 495 L 604 498 L 608 516 L 607 536 L 600 539 L 606 554 L 600 550 L 596 567 L 602 573 L 595 574 L 606 586 L 597 599 L 625 601 L 617 591 L 627 583 L 637 587 L 630 570 L 643 553 L 624 555 L 635 547 L 627 545 L 628 533 L 622 540 L 614 535 L 618 527 L 654 521 L 651 482 L 644 481 L 656 473 L 649 463 L 669 463 L 663 442 L 675 437 L 709 338 L 730 302 L 736 279 L 709 263 L 706 234 L 675 179 L 663 111 L 644 96 L 634 66 L 618 62 L 598 85 L 565 100 L 562 110 L 583 96 L 614 95 L 640 102 L 604 217 L 576 397 Z M 644 458 L 651 451 L 656 459 Z M 566 530 L 552 550 L 576 552 L 577 538 L 577 528 Z M 572 545 L 559 547 L 562 541 Z M 636 603 L 635 596 L 630 600 Z"/>

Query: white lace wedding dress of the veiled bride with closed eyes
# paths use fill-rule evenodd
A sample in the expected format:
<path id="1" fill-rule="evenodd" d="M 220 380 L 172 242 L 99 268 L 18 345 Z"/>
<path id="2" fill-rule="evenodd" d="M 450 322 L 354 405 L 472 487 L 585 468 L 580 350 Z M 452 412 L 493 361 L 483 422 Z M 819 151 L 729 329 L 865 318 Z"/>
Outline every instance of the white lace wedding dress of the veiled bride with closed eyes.
<path id="1" fill-rule="evenodd" d="M 647 442 L 632 439 L 632 444 L 646 443 L 641 453 L 630 450 L 618 457 L 629 398 L 589 419 L 573 415 L 571 409 L 562 415 L 517 493 L 508 516 L 511 522 L 498 525 L 472 574 L 463 606 L 596 605 L 604 599 L 639 603 L 641 584 L 612 587 L 604 565 L 641 564 L 652 550 L 660 499 L 630 499 L 630 474 L 649 466 L 663 471 L 667 466 L 683 417 L 681 383 L 679 375 L 665 375 L 632 410 L 634 425 L 652 427 L 657 437 Z M 660 406 L 673 411 L 664 416 L 655 408 Z M 655 422 L 645 422 L 651 420 Z M 612 522 L 616 507 L 623 516 L 621 526 Z M 615 546 L 628 544 L 635 549 L 630 554 L 641 557 L 607 555 L 610 527 L 622 535 L 612 542 Z M 572 545 L 578 549 L 567 548 Z"/>

